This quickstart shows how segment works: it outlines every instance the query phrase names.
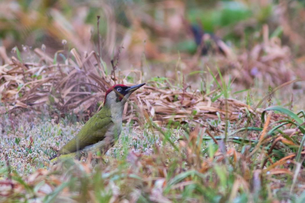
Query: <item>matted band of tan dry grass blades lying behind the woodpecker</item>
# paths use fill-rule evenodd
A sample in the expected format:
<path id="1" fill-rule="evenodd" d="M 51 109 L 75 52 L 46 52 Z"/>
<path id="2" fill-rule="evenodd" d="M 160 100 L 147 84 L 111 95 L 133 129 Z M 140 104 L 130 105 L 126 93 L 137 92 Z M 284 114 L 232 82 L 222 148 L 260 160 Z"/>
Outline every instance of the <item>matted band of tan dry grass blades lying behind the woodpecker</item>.
<path id="1" fill-rule="evenodd" d="M 106 90 L 115 82 L 131 85 L 126 81 L 128 74 L 115 79 L 113 75 L 105 75 L 104 67 L 99 65 L 95 52 L 82 53 L 81 57 L 72 49 L 71 54 L 76 63 L 69 58 L 66 64 L 55 65 L 52 64 L 54 60 L 43 54 L 43 51 L 35 49 L 35 53 L 41 57 L 40 63 L 22 64 L 13 57 L 7 58 L 10 64 L 2 66 L 1 101 L 7 105 L 1 107 L 2 113 L 7 110 L 13 113 L 16 108 L 23 108 L 35 110 L 39 114 L 39 107 L 47 104 L 51 116 L 57 120 L 67 112 L 77 116 L 91 116 L 94 110 L 101 108 Z M 130 72 L 139 75 L 139 80 L 135 83 L 143 82 L 140 71 Z M 130 100 L 144 112 L 149 112 L 149 116 L 156 121 L 187 121 L 192 115 L 192 120 L 200 123 L 206 119 L 218 119 L 216 112 L 224 121 L 224 100 L 212 102 L 209 95 L 179 85 L 152 81 L 137 91 L 137 98 L 131 96 Z M 249 105 L 234 99 L 228 100 L 228 119 L 231 122 L 237 121 L 240 114 L 246 114 L 246 111 L 253 113 Z M 134 108 L 128 108 L 127 104 L 123 120 L 128 119 L 130 122 L 132 118 L 136 119 Z"/>

